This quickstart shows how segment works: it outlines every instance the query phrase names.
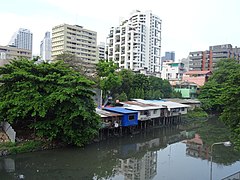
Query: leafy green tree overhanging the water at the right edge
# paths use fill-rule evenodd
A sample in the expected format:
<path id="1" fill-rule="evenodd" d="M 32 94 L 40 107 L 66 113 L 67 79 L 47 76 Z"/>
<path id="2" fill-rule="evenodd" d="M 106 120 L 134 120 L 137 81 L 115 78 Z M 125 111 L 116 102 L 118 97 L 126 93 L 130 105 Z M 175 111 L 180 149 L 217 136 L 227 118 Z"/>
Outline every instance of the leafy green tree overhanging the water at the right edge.
<path id="1" fill-rule="evenodd" d="M 232 140 L 240 149 L 240 64 L 223 59 L 202 87 L 199 99 L 206 110 L 220 113 L 220 119 L 231 129 Z"/>

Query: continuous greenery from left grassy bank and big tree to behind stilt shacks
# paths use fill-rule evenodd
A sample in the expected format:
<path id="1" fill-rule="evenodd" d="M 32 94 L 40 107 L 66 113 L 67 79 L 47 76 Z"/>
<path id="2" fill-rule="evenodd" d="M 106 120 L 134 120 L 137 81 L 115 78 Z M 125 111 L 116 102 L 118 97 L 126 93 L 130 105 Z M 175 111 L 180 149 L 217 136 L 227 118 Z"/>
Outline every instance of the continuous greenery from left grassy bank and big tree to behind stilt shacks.
<path id="1" fill-rule="evenodd" d="M 117 72 L 112 61 L 101 60 L 94 76 L 87 76 L 76 62 L 75 56 L 66 53 L 53 63 L 17 59 L 0 67 L 0 122 L 7 120 L 20 139 L 1 144 L 2 152 L 28 152 L 59 144 L 81 147 L 92 142 L 100 128 L 92 98 L 95 88 L 102 89 L 105 98 L 122 101 L 179 97 L 168 81 L 129 70 Z"/>

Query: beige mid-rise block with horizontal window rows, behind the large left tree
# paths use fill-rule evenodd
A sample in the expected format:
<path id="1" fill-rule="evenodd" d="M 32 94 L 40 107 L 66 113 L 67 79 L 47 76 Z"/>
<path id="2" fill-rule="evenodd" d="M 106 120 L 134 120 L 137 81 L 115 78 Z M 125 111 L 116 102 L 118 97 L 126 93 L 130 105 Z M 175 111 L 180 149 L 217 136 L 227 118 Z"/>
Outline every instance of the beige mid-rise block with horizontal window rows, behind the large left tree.
<path id="1" fill-rule="evenodd" d="M 52 60 L 64 52 L 74 54 L 87 72 L 96 69 L 97 32 L 79 25 L 61 24 L 52 28 Z"/>

